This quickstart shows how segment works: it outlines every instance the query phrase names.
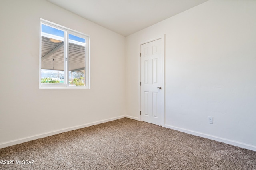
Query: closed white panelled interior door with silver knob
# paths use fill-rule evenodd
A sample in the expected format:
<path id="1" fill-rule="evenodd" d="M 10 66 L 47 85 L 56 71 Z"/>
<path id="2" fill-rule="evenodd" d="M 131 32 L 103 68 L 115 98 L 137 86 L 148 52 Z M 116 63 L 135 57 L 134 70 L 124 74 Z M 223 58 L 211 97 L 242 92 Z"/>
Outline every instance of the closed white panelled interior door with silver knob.
<path id="1" fill-rule="evenodd" d="M 162 38 L 140 46 L 140 119 L 162 125 Z"/>

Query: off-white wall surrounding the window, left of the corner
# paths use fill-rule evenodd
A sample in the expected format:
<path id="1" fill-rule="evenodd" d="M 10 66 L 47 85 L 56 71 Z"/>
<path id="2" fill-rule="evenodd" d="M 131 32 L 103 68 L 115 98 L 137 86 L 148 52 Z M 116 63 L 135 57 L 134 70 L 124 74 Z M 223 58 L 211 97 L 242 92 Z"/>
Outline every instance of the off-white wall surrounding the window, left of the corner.
<path id="1" fill-rule="evenodd" d="M 91 36 L 91 89 L 39 89 L 40 18 Z M 45 0 L 1 0 L 0 23 L 0 148 L 125 115 L 125 37 Z"/>

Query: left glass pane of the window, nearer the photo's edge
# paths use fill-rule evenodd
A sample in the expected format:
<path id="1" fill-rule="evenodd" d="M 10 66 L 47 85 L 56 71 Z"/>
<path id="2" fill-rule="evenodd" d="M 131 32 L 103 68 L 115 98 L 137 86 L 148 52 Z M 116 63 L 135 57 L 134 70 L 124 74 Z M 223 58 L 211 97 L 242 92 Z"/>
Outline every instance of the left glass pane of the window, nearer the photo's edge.
<path id="1" fill-rule="evenodd" d="M 64 83 L 64 32 L 41 25 L 41 83 Z"/>

